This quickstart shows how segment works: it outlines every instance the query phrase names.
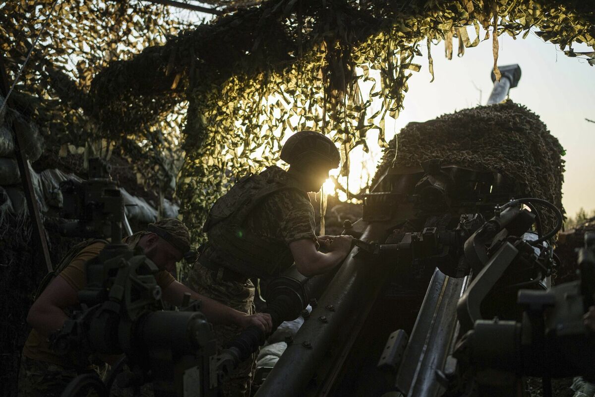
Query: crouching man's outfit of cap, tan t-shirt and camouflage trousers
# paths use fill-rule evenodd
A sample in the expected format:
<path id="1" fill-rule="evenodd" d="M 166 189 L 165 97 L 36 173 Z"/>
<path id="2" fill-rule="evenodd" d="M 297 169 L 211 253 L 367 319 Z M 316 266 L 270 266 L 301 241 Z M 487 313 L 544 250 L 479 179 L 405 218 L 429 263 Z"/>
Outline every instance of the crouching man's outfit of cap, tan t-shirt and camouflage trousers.
<path id="1" fill-rule="evenodd" d="M 190 235 L 186 226 L 177 219 L 164 219 L 156 223 L 149 224 L 151 232 L 138 232 L 134 235 L 124 239 L 131 249 L 134 249 L 139 243 L 140 239 L 149 233 L 156 233 L 159 237 L 169 242 L 174 247 L 180 249 L 184 254 L 188 251 L 190 245 Z M 78 254 L 73 254 L 70 261 L 65 263 L 64 268 L 57 268 L 57 271 L 62 274 L 62 277 L 71 280 L 73 274 L 80 276 L 81 280 L 76 280 L 73 283 L 68 282 L 74 289 L 79 290 L 83 283 L 84 264 L 81 258 L 90 260 L 99 254 L 101 249 L 107 242 L 98 242 L 86 246 Z M 85 254 L 86 252 L 86 254 Z M 69 254 L 71 254 L 69 252 Z M 67 255 L 68 256 L 68 255 Z M 60 267 L 60 265 L 59 265 Z M 63 273 L 61 272 L 63 271 Z M 67 276 L 68 274 L 68 276 Z M 173 282 L 174 277 L 167 271 L 159 271 L 155 276 L 158 279 L 159 285 L 165 287 Z M 76 287 L 75 287 L 76 286 Z M 39 293 L 42 292 L 39 291 Z M 71 313 L 71 308 L 66 308 L 64 312 L 68 315 Z M 99 361 L 94 356 L 91 357 L 93 361 Z M 65 387 L 77 375 L 82 373 L 97 373 L 98 376 L 103 377 L 107 370 L 107 365 L 103 362 L 99 365 L 81 366 L 76 365 L 75 362 L 69 360 L 67 357 L 62 357 L 49 348 L 49 343 L 46 337 L 43 337 L 36 330 L 32 330 L 27 338 L 27 342 L 23 348 L 23 355 L 21 355 L 20 371 L 18 375 L 18 395 L 19 396 L 57 396 L 59 397 L 64 391 Z M 90 393 L 89 396 L 93 396 Z"/>

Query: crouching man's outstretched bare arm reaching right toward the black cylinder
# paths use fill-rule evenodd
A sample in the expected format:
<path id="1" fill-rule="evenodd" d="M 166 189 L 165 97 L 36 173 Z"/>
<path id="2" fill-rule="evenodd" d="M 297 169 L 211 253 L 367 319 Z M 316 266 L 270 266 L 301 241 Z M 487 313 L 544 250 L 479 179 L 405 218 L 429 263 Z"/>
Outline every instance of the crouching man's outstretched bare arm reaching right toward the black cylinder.
<path id="1" fill-rule="evenodd" d="M 246 315 L 245 313 L 234 310 L 214 299 L 200 295 L 178 281 L 174 281 L 163 290 L 163 299 L 171 304 L 179 306 L 182 304 L 182 299 L 186 292 L 190 293 L 192 299 L 202 301 L 201 311 L 211 323 L 234 324 L 241 328 L 257 326 L 266 333 L 271 332 L 271 329 L 273 328 L 273 321 L 271 320 L 270 314 L 258 313 L 255 315 Z"/>

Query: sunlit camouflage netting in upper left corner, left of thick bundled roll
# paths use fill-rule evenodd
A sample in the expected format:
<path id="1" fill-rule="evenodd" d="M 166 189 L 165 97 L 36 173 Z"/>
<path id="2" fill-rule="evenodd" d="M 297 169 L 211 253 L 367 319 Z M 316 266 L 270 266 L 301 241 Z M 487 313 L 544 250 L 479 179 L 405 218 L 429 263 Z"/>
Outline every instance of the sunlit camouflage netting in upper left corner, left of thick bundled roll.
<path id="1" fill-rule="evenodd" d="M 145 96 L 145 101 L 167 101 L 176 111 L 142 122 L 134 119 L 133 104 L 123 104 L 120 114 L 134 127 L 114 132 L 102 127 L 115 120 L 99 109 L 90 88 L 112 61 L 163 45 L 187 24 L 171 17 L 167 7 L 136 0 L 8 1 L 0 2 L 0 10 L 4 64 L 10 82 L 19 77 L 11 95 L 15 111 L 39 126 L 47 148 L 36 166 L 70 168 L 67 157 L 82 157 L 83 151 L 85 158 L 113 154 L 140 185 L 173 194 L 183 161 L 182 92 Z"/>

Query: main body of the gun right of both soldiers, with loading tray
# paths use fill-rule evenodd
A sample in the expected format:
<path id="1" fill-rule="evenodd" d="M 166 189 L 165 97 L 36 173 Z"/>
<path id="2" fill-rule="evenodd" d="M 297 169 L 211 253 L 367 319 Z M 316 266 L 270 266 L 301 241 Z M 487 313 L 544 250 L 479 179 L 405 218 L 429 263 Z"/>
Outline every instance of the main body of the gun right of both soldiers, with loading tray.
<path id="1" fill-rule="evenodd" d="M 399 152 L 396 157 L 394 152 L 385 155 L 384 167 L 364 196 L 362 219 L 346 224 L 345 233 L 359 239 L 357 247 L 256 397 L 520 396 L 525 375 L 544 377 L 547 395 L 550 377 L 584 374 L 592 364 L 585 360 L 556 373 L 551 361 L 535 362 L 555 351 L 544 345 L 544 340 L 556 339 L 546 331 L 553 324 L 575 321 L 567 344 L 556 345 L 560 349 L 571 345 L 569 340 L 577 343 L 574 351 L 576 346 L 588 348 L 590 342 L 577 334 L 577 329 L 584 334 L 576 324 L 583 305 L 566 312 L 565 318 L 546 321 L 549 328 L 538 327 L 547 305 L 559 303 L 556 299 L 563 295 L 561 289 L 548 292 L 556 266 L 548 240 L 562 223 L 556 208 L 561 183 L 550 180 L 550 186 L 541 189 L 549 167 L 541 160 L 559 159 L 560 151 L 543 127 L 540 143 L 550 152 L 527 156 L 533 163 L 519 175 L 521 163 L 513 157 L 533 146 L 536 136 L 527 133 L 519 139 L 518 127 L 499 120 L 499 112 L 518 110 L 499 102 L 520 78 L 518 65 L 501 70 L 503 78 L 488 102 L 495 105 L 466 113 L 475 117 L 477 130 L 461 131 L 465 126 L 452 122 L 456 136 L 449 140 L 446 131 L 433 139 L 412 123 L 400 134 Z M 437 130 L 447 123 L 437 119 L 425 124 Z M 499 136 L 481 130 L 494 125 L 503 130 Z M 420 143 L 424 138 L 427 141 Z M 511 141 L 519 146 L 511 148 Z M 422 148 L 416 151 L 416 145 Z M 474 146 L 481 145 L 483 152 L 474 154 Z M 420 161 L 419 152 L 440 147 L 436 157 Z M 462 161 L 466 157 L 474 160 Z M 515 200 L 536 195 L 556 205 L 543 199 Z M 577 290 L 576 285 L 568 288 Z M 533 322 L 526 320 L 528 312 Z M 565 309 L 558 307 L 558 312 Z M 507 334 L 501 334 L 504 324 Z M 534 330 L 536 343 L 528 342 L 528 329 Z M 508 339 L 502 339 L 505 335 Z M 500 343 L 492 344 L 494 338 Z M 475 348 L 472 358 L 471 349 L 461 351 L 470 345 Z M 535 349 L 544 355 L 527 355 Z M 495 365 L 499 359 L 504 367 Z M 470 373 L 469 367 L 475 368 L 470 362 L 480 362 L 481 371 Z"/>

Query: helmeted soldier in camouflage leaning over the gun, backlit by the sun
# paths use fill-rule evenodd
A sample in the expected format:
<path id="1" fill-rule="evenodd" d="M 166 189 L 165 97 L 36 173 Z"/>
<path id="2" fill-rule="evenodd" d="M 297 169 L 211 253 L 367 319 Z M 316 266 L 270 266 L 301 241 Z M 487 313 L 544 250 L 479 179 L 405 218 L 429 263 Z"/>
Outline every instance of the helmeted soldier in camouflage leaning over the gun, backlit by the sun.
<path id="1" fill-rule="evenodd" d="M 215 202 L 203 232 L 208 242 L 190 270 L 189 285 L 236 310 L 254 312 L 250 278 L 268 280 L 295 262 L 304 276 L 325 273 L 349 254 L 352 236 L 320 236 L 314 232 L 314 208 L 307 192 L 318 192 L 328 171 L 339 165 L 339 151 L 321 133 L 298 132 L 281 150 L 288 171 L 267 167 L 240 179 Z M 328 252 L 317 251 L 318 243 Z M 239 329 L 215 326 L 218 343 Z M 249 396 L 255 360 L 246 360 L 223 385 L 226 396 Z"/>

